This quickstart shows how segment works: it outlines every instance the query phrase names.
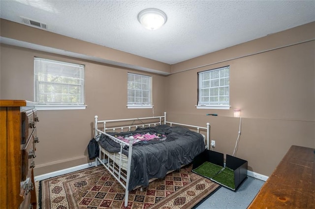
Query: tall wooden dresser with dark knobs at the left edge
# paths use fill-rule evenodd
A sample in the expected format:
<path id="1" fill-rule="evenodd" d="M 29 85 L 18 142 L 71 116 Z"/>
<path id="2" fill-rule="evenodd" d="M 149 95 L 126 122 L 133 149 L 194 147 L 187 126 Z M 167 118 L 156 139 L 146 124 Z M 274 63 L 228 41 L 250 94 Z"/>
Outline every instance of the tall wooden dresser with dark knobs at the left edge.
<path id="1" fill-rule="evenodd" d="M 0 209 L 36 209 L 33 168 L 37 112 L 25 100 L 0 100 Z"/>

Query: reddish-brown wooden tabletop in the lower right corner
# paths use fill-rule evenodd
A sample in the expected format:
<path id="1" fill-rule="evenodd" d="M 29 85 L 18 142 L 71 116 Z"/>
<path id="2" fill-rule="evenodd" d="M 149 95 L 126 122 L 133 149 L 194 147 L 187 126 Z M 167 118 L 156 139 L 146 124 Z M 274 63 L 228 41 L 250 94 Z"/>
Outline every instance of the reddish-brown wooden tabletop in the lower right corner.
<path id="1" fill-rule="evenodd" d="M 291 146 L 248 209 L 315 209 L 315 149 Z"/>

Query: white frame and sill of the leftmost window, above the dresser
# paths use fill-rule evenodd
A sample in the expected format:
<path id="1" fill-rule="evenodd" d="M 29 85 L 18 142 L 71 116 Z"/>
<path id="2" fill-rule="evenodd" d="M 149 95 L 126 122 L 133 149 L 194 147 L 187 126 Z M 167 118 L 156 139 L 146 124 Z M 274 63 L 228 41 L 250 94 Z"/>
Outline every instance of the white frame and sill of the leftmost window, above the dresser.
<path id="1" fill-rule="evenodd" d="M 54 102 L 40 102 L 36 99 L 36 94 L 37 88 L 36 84 L 38 85 L 38 79 L 37 79 L 37 74 L 38 72 L 36 70 L 41 70 L 41 69 L 36 69 L 36 62 L 46 62 L 48 63 L 53 63 L 53 64 L 60 64 L 61 66 L 71 66 L 71 67 L 77 67 L 78 69 L 81 69 L 81 76 L 79 77 L 82 79 L 82 84 L 77 86 L 81 87 L 81 101 L 77 103 L 71 103 L 71 102 L 65 102 L 65 103 L 54 103 Z M 52 72 L 53 69 L 51 69 L 50 72 Z M 64 74 L 60 74 L 64 75 Z M 46 75 L 47 76 L 47 75 Z M 45 83 L 49 83 L 49 81 L 45 81 Z M 63 86 L 64 84 L 55 84 L 57 87 Z M 40 92 L 39 92 L 40 93 Z M 85 105 L 85 66 L 83 64 L 76 64 L 76 63 L 71 63 L 71 62 L 66 62 L 66 61 L 59 61 L 59 60 L 51 60 L 51 59 L 45 59 L 45 58 L 38 58 L 34 57 L 34 106 L 37 110 L 84 110 L 86 109 L 87 105 Z"/>

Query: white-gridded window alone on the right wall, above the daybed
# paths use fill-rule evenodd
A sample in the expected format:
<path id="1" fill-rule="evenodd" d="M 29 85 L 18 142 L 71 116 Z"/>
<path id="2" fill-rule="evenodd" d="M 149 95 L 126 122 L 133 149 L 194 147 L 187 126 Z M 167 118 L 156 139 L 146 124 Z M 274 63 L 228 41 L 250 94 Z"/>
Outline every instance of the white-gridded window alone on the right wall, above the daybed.
<path id="1" fill-rule="evenodd" d="M 230 108 L 230 67 L 221 67 L 198 73 L 198 109 Z"/>

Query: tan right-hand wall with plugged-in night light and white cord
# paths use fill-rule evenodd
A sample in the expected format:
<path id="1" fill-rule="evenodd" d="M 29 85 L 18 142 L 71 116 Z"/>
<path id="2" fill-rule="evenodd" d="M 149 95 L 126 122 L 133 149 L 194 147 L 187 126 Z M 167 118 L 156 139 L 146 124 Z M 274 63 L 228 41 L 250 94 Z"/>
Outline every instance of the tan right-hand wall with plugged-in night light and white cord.
<path id="1" fill-rule="evenodd" d="M 167 76 L 168 119 L 199 125 L 210 122 L 215 150 L 232 155 L 240 122 L 233 118 L 233 109 L 241 109 L 242 131 L 236 156 L 248 160 L 249 170 L 267 176 L 291 145 L 315 148 L 314 26 L 312 23 L 284 31 L 283 36 L 268 36 L 270 43 L 268 37 L 254 40 L 255 46 L 270 50 L 256 55 L 224 61 L 226 55 L 236 55 L 235 48 L 251 51 L 253 46 L 246 43 L 215 52 L 214 58 L 209 54 L 196 58 L 198 61 L 175 64 L 173 69 L 178 72 Z M 307 41 L 310 29 L 313 41 Z M 294 34 L 299 34 L 299 42 L 306 42 L 294 45 L 295 40 L 283 41 Z M 277 38 L 283 46 L 293 45 L 271 50 Z M 185 71 L 185 66 L 213 62 L 218 63 Z M 226 65 L 230 65 L 230 110 L 196 109 L 197 73 Z M 206 116 L 208 113 L 218 116 Z"/>

